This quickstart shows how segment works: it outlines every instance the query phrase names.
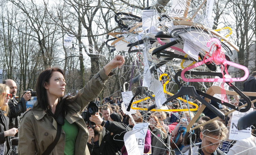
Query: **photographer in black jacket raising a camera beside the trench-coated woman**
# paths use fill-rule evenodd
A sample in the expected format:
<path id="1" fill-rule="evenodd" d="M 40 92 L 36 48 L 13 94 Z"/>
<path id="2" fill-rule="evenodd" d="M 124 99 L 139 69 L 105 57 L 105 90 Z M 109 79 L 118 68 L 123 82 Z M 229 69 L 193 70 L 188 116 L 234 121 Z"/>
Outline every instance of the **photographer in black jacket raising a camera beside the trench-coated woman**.
<path id="1" fill-rule="evenodd" d="M 88 129 L 87 146 L 90 155 L 121 155 L 124 135 L 130 128 L 123 123 L 102 120 L 99 113 L 91 115 L 90 121 L 95 123 L 95 127 Z"/>

